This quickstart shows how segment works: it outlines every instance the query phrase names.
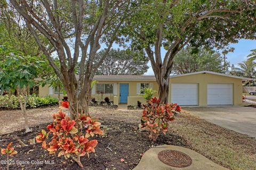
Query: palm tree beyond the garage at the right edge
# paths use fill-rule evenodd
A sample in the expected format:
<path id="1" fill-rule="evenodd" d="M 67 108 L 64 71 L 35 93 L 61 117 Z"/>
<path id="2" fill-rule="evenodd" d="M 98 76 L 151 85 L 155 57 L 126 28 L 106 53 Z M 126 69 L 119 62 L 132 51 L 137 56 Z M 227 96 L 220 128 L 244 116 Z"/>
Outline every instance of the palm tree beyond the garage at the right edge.
<path id="1" fill-rule="evenodd" d="M 236 68 L 236 71 L 243 74 L 244 77 L 254 79 L 256 73 L 256 63 L 250 58 L 242 63 L 237 64 L 239 67 Z M 249 81 L 246 84 L 250 86 L 253 81 Z"/>

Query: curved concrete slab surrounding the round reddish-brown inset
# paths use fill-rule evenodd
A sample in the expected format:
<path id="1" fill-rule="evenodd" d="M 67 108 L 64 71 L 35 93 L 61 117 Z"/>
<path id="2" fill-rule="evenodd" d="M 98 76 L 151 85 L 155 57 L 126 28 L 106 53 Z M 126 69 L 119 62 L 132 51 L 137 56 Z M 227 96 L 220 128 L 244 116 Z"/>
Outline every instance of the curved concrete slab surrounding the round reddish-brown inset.
<path id="1" fill-rule="evenodd" d="M 192 164 L 185 168 L 176 168 L 166 165 L 158 159 L 157 154 L 163 150 L 178 150 L 181 151 L 192 159 Z M 206 157 L 198 154 L 197 152 L 173 145 L 163 145 L 151 148 L 145 152 L 142 156 L 140 163 L 133 170 L 181 170 L 181 169 L 193 169 L 193 170 L 227 170 L 220 165 L 213 163 Z"/>

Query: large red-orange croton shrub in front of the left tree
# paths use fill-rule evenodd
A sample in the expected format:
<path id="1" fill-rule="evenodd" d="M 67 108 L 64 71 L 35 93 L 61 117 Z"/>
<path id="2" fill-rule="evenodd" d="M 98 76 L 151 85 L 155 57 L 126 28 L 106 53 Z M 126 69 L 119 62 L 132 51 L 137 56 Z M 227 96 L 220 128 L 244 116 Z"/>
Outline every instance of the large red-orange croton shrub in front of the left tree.
<path id="1" fill-rule="evenodd" d="M 61 107 L 69 107 L 68 101 L 62 101 Z M 71 158 L 83 167 L 80 157 L 95 151 L 97 140 L 89 140 L 95 134 L 102 134 L 100 122 L 85 114 L 78 114 L 75 120 L 70 120 L 60 107 L 59 113 L 53 114 L 54 122 L 47 125 L 46 130 L 38 133 L 37 142 L 42 142 L 42 147 L 49 151 L 49 154 L 58 157 Z M 48 138 L 51 136 L 50 142 Z"/>

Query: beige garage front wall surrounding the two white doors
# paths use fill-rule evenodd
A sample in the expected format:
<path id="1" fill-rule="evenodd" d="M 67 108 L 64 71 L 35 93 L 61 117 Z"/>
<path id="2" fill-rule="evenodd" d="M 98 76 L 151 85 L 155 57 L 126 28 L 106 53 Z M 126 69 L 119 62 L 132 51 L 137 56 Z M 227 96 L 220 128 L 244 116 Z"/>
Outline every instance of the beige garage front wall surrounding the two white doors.
<path id="1" fill-rule="evenodd" d="M 207 84 L 210 83 L 231 83 L 233 84 L 233 103 L 234 105 L 242 105 L 242 80 L 215 75 L 210 73 L 185 75 L 181 77 L 173 77 L 169 81 L 169 102 L 171 102 L 171 83 L 198 83 L 198 104 L 199 106 L 207 106 Z"/>

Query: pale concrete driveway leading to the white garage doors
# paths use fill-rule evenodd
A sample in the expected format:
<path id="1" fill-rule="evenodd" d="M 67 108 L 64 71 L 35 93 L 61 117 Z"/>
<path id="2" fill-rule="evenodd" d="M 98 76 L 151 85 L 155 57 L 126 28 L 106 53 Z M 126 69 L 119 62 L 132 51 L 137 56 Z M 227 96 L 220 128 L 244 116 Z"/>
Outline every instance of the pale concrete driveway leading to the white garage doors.
<path id="1" fill-rule="evenodd" d="M 256 108 L 243 106 L 183 107 L 191 115 L 256 138 Z"/>

